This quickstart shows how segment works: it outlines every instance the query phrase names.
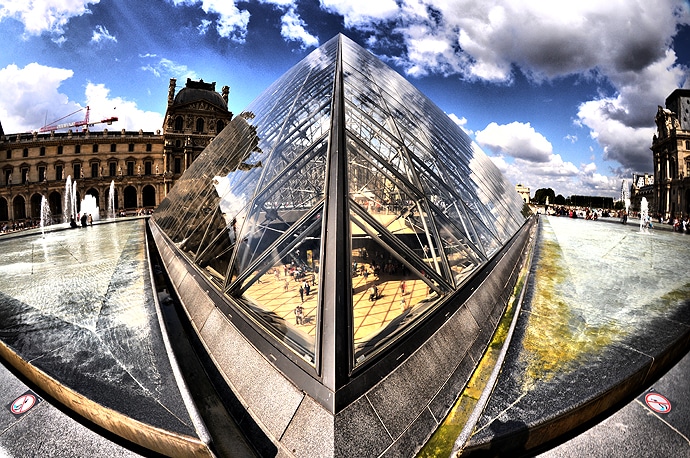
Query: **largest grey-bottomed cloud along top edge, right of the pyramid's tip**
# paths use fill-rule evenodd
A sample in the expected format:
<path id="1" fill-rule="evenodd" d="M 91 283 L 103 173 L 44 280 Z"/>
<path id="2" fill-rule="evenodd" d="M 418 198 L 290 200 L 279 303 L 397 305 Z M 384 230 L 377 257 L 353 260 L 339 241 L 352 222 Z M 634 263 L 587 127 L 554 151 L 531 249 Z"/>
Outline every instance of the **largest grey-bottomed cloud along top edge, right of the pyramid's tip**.
<path id="1" fill-rule="evenodd" d="M 639 71 L 663 58 L 676 26 L 690 21 L 682 0 L 400 3 L 398 9 L 390 5 L 369 16 L 362 13 L 367 8 L 349 1 L 321 2 L 324 9 L 342 14 L 348 27 L 373 30 L 376 22 L 395 18 L 412 73 L 493 82 L 512 81 L 515 68 L 535 81 Z"/>

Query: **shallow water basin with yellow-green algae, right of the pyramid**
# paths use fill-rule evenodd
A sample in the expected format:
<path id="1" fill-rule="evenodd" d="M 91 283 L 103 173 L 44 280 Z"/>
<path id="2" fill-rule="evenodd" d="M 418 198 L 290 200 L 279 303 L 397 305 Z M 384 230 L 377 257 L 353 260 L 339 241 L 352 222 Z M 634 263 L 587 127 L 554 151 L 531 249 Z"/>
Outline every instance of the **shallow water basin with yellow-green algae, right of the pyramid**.
<path id="1" fill-rule="evenodd" d="M 515 335 L 463 456 L 534 453 L 625 405 L 690 347 L 690 238 L 568 218 L 540 224 Z"/>

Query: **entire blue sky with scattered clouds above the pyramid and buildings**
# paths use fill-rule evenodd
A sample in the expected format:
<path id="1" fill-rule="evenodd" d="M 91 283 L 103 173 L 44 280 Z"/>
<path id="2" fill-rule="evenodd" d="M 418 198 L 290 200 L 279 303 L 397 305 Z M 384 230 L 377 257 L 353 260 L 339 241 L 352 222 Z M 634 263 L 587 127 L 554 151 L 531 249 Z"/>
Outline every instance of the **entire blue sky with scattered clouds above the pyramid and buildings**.
<path id="1" fill-rule="evenodd" d="M 229 86 L 238 114 L 338 32 L 532 193 L 618 197 L 652 171 L 657 106 L 690 87 L 687 0 L 0 0 L 0 122 L 32 131 L 89 105 L 155 131 L 173 77 Z"/>

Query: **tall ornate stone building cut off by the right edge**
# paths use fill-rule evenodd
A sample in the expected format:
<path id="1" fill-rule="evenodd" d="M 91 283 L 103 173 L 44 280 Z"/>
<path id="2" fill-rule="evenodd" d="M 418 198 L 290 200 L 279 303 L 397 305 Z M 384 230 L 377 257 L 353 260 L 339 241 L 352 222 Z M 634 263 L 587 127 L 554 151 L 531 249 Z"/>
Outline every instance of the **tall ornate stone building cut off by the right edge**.
<path id="1" fill-rule="evenodd" d="M 665 218 L 690 214 L 690 89 L 676 89 L 656 114 L 654 204 L 650 213 Z M 649 200 L 649 199 L 648 199 Z"/>

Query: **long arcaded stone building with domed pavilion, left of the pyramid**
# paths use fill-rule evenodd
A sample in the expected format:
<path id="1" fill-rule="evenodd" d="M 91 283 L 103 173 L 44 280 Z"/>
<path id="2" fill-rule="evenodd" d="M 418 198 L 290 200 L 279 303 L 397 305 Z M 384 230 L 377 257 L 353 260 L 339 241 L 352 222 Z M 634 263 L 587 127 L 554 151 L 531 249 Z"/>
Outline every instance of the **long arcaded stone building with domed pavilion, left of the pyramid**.
<path id="1" fill-rule="evenodd" d="M 0 223 L 36 220 L 41 200 L 62 221 L 65 181 L 77 182 L 77 201 L 92 195 L 101 217 L 114 182 L 117 211 L 153 209 L 177 178 L 232 119 L 228 88 L 187 80 L 175 95 L 170 80 L 163 131 L 116 130 L 5 134 L 0 125 Z"/>

